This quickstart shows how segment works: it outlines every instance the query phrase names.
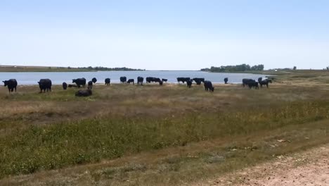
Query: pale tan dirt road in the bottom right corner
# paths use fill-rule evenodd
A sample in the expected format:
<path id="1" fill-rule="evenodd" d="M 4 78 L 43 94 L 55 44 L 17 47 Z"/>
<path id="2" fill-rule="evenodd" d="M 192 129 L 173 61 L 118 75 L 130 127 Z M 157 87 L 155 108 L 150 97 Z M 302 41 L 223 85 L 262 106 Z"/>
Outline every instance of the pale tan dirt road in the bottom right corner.
<path id="1" fill-rule="evenodd" d="M 196 185 L 329 185 L 329 144 Z"/>

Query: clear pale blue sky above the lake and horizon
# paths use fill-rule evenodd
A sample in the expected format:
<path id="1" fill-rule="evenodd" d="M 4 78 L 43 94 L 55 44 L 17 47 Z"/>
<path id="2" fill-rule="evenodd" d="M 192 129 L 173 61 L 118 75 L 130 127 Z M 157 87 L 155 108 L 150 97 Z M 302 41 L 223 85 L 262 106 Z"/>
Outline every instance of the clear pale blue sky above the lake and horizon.
<path id="1" fill-rule="evenodd" d="M 329 66 L 326 0 L 0 0 L 0 64 Z"/>

